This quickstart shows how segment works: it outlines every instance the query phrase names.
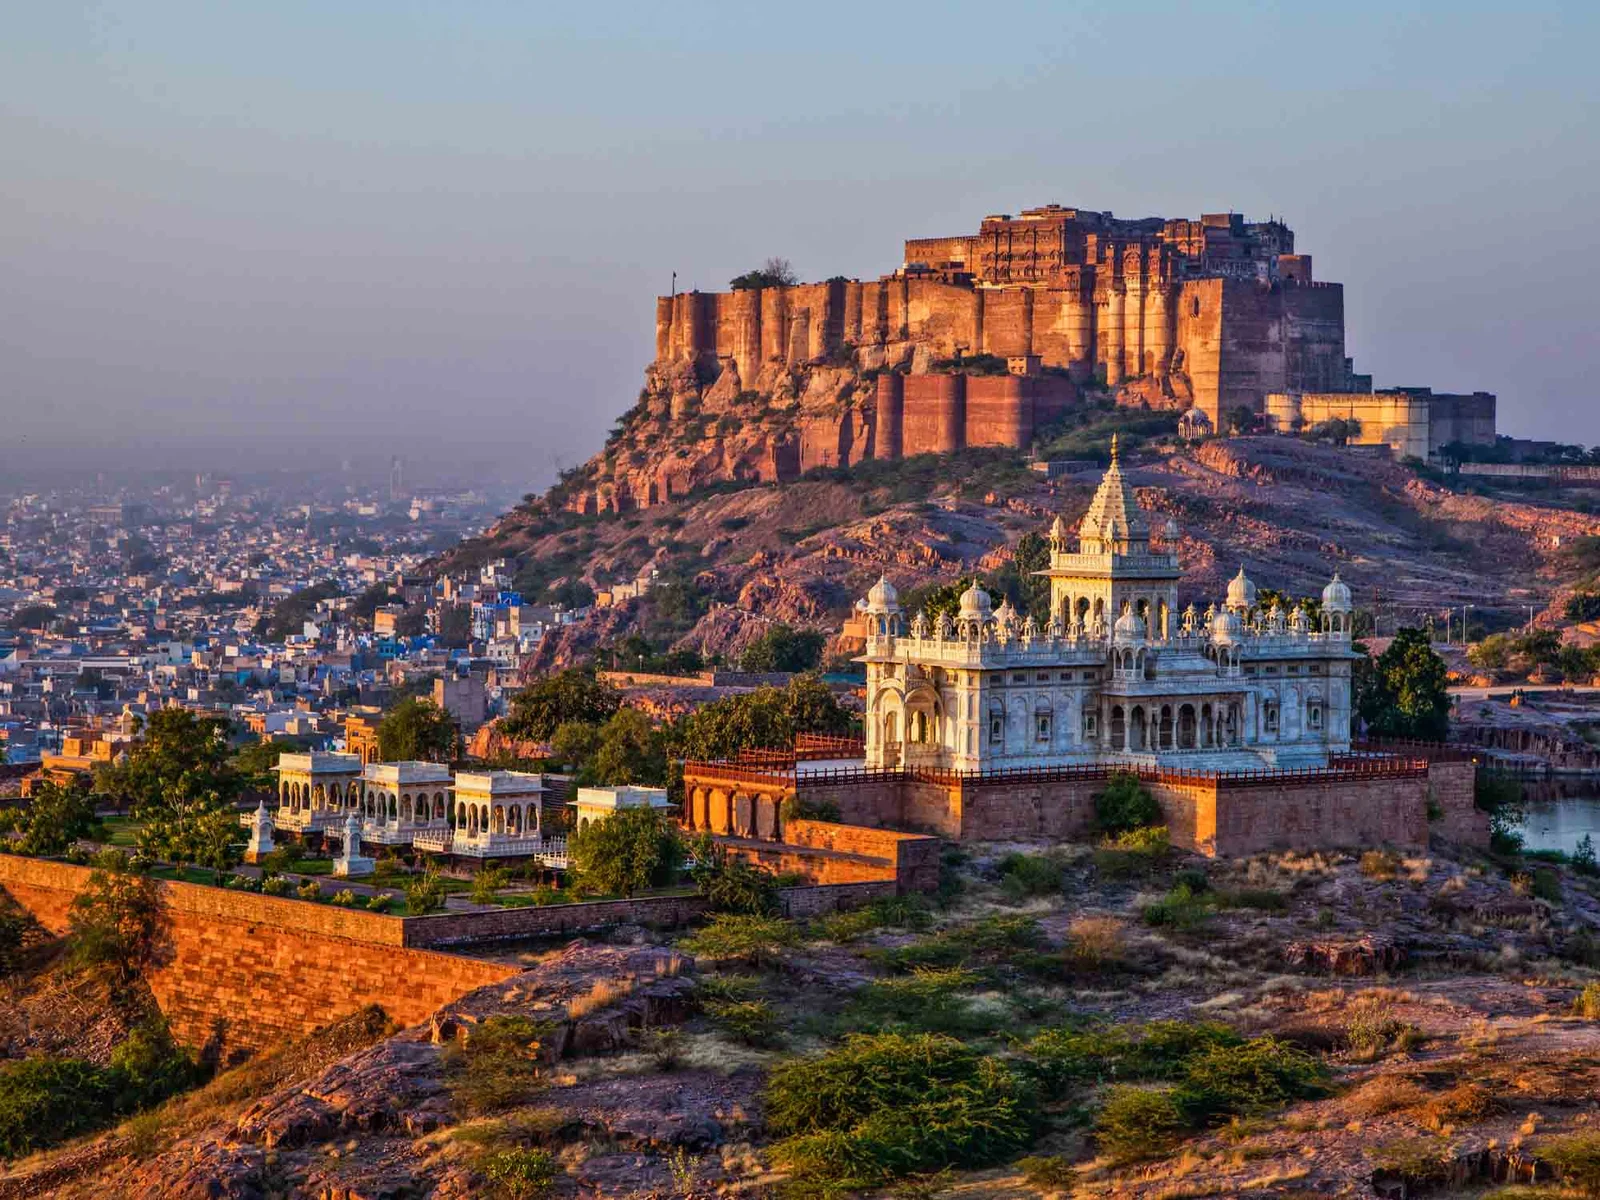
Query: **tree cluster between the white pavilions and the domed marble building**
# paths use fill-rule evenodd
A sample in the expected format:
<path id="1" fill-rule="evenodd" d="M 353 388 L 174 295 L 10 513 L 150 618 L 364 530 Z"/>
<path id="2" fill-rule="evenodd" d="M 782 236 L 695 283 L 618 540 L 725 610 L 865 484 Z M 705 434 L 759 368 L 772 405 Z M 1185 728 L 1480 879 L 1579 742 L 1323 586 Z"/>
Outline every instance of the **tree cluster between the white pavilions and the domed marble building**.
<path id="1" fill-rule="evenodd" d="M 784 688 L 726 696 L 658 726 L 592 670 L 547 675 L 512 698 L 501 722 L 509 738 L 547 742 L 550 760 L 579 782 L 667 786 L 672 758 L 726 758 L 744 749 L 779 750 L 798 733 L 843 734 L 854 726 L 827 685 L 797 675 Z"/>

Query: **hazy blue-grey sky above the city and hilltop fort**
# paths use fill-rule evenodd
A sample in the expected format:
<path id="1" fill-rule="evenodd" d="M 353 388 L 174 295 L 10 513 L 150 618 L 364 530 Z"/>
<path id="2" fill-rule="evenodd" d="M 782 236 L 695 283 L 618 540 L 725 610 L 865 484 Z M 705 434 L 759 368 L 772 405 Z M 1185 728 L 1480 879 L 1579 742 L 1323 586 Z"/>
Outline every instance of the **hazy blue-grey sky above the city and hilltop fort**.
<path id="1" fill-rule="evenodd" d="M 1283 216 L 1382 384 L 1600 442 L 1600 5 L 0 0 L 0 467 L 547 482 L 653 296 L 1061 202 Z"/>

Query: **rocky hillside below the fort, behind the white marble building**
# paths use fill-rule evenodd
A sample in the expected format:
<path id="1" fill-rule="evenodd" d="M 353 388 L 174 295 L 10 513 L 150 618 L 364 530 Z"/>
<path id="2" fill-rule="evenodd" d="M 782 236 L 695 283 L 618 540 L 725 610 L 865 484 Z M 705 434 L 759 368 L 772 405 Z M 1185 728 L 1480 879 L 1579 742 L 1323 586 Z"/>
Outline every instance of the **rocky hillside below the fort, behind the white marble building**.
<path id="1" fill-rule="evenodd" d="M 1520 624 L 1526 605 L 1544 610 L 1563 594 L 1562 547 L 1600 533 L 1600 518 L 1576 509 L 1453 491 L 1379 456 L 1291 438 L 1192 451 L 1152 443 L 1125 469 L 1141 502 L 1178 523 L 1184 594 L 1202 606 L 1240 563 L 1259 586 L 1296 595 L 1320 592 L 1338 566 L 1357 605 L 1381 610 L 1386 630 L 1464 603 L 1478 619 Z M 654 565 L 710 598 L 707 611 L 674 621 L 650 598 L 600 610 L 550 638 L 538 669 L 635 630 L 736 653 L 771 621 L 837 632 L 880 573 L 904 592 L 995 570 L 1058 512 L 1075 523 L 1098 478 L 1086 467 L 1045 482 L 1008 451 L 966 451 L 642 512 L 576 517 L 539 501 L 438 566 L 507 555 L 523 565 L 525 584 L 542 587 L 566 578 L 606 584 Z"/>

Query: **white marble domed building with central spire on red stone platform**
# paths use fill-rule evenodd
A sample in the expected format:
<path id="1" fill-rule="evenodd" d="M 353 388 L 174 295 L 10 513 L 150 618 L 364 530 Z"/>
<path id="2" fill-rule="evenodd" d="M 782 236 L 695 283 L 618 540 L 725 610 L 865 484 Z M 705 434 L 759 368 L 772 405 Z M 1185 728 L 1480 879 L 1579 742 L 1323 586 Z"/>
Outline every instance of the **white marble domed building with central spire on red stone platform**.
<path id="1" fill-rule="evenodd" d="M 1163 531 L 1166 541 L 1176 530 Z M 1205 771 L 1326 766 L 1350 744 L 1350 592 L 1334 574 L 1320 627 L 1256 605 L 1243 568 L 1221 606 L 1178 608 L 1178 555 L 1112 466 L 1078 546 L 1051 530 L 1040 627 L 966 590 L 952 619 L 909 627 L 880 579 L 867 629 L 869 770 L 1126 765 Z"/>

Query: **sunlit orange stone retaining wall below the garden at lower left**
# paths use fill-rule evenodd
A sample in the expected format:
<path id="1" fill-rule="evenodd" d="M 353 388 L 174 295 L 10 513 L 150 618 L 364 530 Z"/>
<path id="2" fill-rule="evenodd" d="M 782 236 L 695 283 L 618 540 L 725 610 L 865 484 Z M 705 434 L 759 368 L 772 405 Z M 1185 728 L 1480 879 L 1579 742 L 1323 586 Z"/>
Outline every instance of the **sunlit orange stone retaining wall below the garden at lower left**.
<path id="1" fill-rule="evenodd" d="M 88 867 L 0 854 L 0 888 L 61 933 Z M 379 1005 L 402 1026 L 520 968 L 402 946 L 397 917 L 158 883 L 166 939 L 150 990 L 181 1042 L 224 1059 Z"/>

